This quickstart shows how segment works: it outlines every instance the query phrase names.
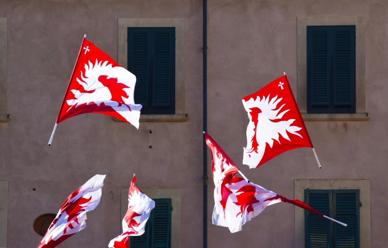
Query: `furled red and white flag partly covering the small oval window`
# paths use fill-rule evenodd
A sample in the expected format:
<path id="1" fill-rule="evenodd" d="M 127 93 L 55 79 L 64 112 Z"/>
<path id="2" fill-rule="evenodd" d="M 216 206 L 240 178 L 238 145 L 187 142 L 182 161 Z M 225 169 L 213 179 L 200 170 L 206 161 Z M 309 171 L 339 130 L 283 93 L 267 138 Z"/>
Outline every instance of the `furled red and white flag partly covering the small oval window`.
<path id="1" fill-rule="evenodd" d="M 86 213 L 100 203 L 104 179 L 105 175 L 96 175 L 71 193 L 62 204 L 38 248 L 54 248 L 86 227 Z"/>

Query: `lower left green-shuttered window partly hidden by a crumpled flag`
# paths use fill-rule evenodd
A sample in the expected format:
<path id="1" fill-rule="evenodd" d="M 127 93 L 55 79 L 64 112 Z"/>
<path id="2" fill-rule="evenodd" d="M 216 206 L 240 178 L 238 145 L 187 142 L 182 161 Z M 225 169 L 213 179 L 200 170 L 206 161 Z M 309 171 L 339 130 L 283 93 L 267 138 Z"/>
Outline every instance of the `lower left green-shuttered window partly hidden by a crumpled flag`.
<path id="1" fill-rule="evenodd" d="M 143 235 L 131 237 L 131 248 L 171 248 L 171 199 L 153 199 L 152 209 Z"/>

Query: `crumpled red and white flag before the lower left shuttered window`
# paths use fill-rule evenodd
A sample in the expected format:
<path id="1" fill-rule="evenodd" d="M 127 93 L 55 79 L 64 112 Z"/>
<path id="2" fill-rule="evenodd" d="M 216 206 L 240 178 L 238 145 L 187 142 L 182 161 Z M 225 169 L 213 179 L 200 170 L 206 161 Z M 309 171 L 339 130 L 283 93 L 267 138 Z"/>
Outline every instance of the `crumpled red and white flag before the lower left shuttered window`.
<path id="1" fill-rule="evenodd" d="M 144 233 L 155 202 L 141 192 L 136 186 L 136 177 L 131 182 L 128 192 L 128 210 L 122 220 L 123 233 L 109 242 L 109 248 L 128 248 L 130 236 L 140 236 Z"/>

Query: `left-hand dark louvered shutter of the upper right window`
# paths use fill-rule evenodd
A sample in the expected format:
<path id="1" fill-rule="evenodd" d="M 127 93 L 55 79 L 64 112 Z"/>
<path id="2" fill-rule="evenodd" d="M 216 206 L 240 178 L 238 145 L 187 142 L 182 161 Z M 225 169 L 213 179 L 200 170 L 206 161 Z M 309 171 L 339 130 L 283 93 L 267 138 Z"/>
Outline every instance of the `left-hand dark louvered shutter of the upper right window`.
<path id="1" fill-rule="evenodd" d="M 309 113 L 330 109 L 330 27 L 307 27 L 307 102 Z"/>

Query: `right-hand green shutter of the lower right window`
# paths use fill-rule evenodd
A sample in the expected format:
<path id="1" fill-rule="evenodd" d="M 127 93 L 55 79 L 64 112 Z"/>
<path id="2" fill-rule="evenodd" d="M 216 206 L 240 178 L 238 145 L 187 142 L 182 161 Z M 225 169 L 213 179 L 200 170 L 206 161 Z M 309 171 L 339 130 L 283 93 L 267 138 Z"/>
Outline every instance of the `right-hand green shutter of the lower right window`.
<path id="1" fill-rule="evenodd" d="M 334 190 L 334 218 L 348 224 L 334 224 L 336 248 L 359 248 L 359 190 Z"/>

